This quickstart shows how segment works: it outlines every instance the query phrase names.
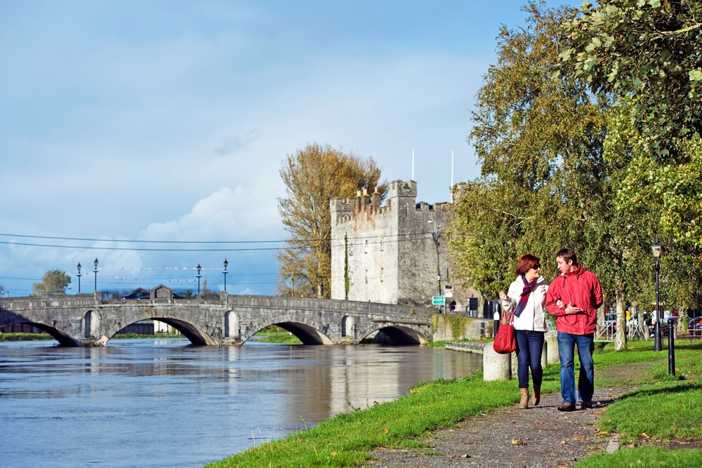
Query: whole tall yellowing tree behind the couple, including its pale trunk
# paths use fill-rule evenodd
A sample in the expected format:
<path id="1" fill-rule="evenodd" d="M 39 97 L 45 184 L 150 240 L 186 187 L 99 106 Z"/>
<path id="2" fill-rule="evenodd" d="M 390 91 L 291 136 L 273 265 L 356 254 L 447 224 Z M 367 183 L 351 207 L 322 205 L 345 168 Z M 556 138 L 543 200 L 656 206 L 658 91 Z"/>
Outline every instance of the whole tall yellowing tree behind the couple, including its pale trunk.
<path id="1" fill-rule="evenodd" d="M 624 349 L 625 305 L 644 282 L 650 245 L 632 232 L 649 218 L 614 210 L 627 161 L 605 154 L 610 128 L 620 125 L 612 102 L 562 72 L 567 38 L 559 26 L 572 10 L 531 2 L 525 11 L 526 28 L 503 28 L 498 63 L 478 93 L 470 138 L 482 178 L 456 204 L 453 251 L 474 286 L 494 295 L 499 281 L 513 279 L 520 255 L 540 256 L 550 279 L 554 253 L 574 247 L 600 277 L 605 305 L 617 307 L 617 349 Z"/>

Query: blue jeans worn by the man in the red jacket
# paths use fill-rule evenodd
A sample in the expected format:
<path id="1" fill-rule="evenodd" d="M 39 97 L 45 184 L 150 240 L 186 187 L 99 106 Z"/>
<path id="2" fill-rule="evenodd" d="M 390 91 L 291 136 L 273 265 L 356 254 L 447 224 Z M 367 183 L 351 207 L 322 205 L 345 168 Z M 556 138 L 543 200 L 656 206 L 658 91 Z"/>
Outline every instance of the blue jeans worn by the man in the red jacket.
<path id="1" fill-rule="evenodd" d="M 558 354 L 561 360 L 561 395 L 563 403 L 575 405 L 575 370 L 574 354 L 578 345 L 580 359 L 580 374 L 578 375 L 578 392 L 583 401 L 591 401 L 595 393 L 595 364 L 592 362 L 592 352 L 595 350 L 595 333 L 588 335 L 572 335 L 558 332 Z"/>

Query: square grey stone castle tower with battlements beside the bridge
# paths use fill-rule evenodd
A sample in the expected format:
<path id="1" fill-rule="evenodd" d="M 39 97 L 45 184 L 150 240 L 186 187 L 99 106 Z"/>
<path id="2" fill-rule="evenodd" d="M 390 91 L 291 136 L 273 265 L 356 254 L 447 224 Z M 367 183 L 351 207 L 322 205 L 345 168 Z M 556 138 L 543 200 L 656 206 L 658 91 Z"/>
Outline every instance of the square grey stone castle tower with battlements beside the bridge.
<path id="1" fill-rule="evenodd" d="M 331 200 L 332 299 L 427 306 L 444 296 L 447 309 L 468 312 L 472 302 L 477 314 L 478 294 L 451 276 L 451 203 L 416 196 L 416 182 L 395 180 L 385 206 L 378 193 Z"/>

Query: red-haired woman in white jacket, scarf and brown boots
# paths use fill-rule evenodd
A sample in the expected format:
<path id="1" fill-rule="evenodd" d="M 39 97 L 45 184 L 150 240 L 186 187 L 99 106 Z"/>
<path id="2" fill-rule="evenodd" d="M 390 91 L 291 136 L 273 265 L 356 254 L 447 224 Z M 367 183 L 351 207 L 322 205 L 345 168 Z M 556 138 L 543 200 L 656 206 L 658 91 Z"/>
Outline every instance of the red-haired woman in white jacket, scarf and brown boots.
<path id="1" fill-rule="evenodd" d="M 510 284 L 507 294 L 500 291 L 502 308 L 513 312 L 515 335 L 517 335 L 517 377 L 519 379 L 519 409 L 529 408 L 529 368 L 533 392 L 531 404 L 536 406 L 541 400 L 541 353 L 543 337 L 546 333 L 544 316 L 548 283 L 541 276 L 538 257 L 527 253 L 517 262 L 517 279 Z"/>

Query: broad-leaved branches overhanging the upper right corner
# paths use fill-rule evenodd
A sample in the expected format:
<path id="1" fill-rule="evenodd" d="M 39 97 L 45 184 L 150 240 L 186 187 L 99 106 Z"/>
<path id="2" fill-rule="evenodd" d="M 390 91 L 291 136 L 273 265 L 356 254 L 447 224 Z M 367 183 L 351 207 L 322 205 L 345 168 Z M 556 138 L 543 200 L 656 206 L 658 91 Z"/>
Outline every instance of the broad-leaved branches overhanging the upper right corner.
<path id="1" fill-rule="evenodd" d="M 702 131 L 702 3 L 602 0 L 564 22 L 561 58 L 597 93 L 633 96 L 635 128 L 656 158 Z"/>

